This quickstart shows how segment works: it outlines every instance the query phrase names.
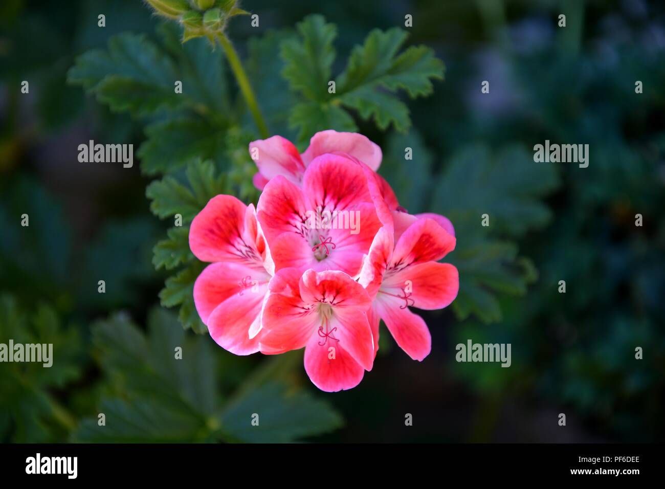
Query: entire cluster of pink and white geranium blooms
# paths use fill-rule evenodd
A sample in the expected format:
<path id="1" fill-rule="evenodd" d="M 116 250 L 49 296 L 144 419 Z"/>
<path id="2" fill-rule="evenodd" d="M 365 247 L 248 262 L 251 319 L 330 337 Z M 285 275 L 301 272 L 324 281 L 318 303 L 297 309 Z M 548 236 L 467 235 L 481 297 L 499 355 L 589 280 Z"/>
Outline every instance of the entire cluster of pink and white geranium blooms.
<path id="1" fill-rule="evenodd" d="M 438 262 L 455 247 L 450 221 L 401 208 L 361 134 L 319 132 L 303 154 L 273 136 L 249 152 L 257 207 L 219 195 L 190 229 L 192 252 L 211 262 L 194 285 L 211 337 L 236 355 L 305 347 L 307 375 L 330 392 L 372 369 L 380 319 L 422 361 L 430 331 L 409 308 L 441 309 L 458 293 L 456 267 Z"/>

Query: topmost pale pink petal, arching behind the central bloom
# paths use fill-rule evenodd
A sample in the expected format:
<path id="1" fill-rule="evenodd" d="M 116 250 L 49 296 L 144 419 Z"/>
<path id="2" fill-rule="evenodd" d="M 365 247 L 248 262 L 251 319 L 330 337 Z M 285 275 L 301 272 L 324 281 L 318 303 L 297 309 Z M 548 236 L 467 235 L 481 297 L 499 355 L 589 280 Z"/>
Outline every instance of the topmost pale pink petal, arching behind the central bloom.
<path id="1" fill-rule="evenodd" d="M 303 153 L 305 166 L 321 154 L 348 153 L 362 161 L 376 172 L 381 164 L 381 148 L 357 132 L 337 132 L 325 130 L 317 132 L 309 140 L 309 148 Z"/>

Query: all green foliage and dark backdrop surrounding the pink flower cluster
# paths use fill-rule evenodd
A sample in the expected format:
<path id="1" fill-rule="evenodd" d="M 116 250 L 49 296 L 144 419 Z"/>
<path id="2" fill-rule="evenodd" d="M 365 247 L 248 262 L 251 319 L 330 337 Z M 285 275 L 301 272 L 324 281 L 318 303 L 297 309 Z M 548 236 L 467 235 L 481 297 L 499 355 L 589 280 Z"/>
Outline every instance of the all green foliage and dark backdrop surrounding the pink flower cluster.
<path id="1" fill-rule="evenodd" d="M 247 144 L 258 135 L 223 52 L 203 39 L 181 45 L 176 26 L 136 1 L 9 0 L 0 7 L 0 290 L 11 295 L 0 301 L 0 342 L 54 337 L 62 371 L 1 367 L 0 438 L 290 441 L 340 427 L 340 411 L 346 428 L 323 439 L 662 440 L 665 7 L 243 8 L 261 27 L 233 19 L 229 37 L 271 134 L 302 149 L 316 130 L 359 130 L 382 147 L 380 173 L 402 206 L 454 223 L 446 261 L 460 269 L 460 295 L 450 311 L 423 313 L 432 354 L 412 363 L 384 333 L 374 371 L 323 403 L 303 391 L 299 352 L 234 357 L 155 309 L 166 281 L 162 305 L 205 333 L 188 223 L 217 193 L 257 198 Z M 406 13 L 414 27 L 398 28 Z M 30 97 L 17 89 L 24 79 Z M 140 146 L 142 176 L 120 171 L 104 182 L 87 167 L 44 163 L 57 152 L 74 160 L 70 146 L 93 136 Z M 589 144 L 589 168 L 535 164 L 531 148 L 546 139 Z M 184 226 L 172 227 L 174 214 Z M 106 294 L 96 293 L 102 275 Z M 511 343 L 511 368 L 456 363 L 454 346 L 467 339 Z M 173 360 L 180 345 L 192 362 Z M 250 431 L 257 410 L 267 415 Z M 408 430 L 404 412 L 416 418 Z M 547 428 L 558 412 L 569 419 L 565 434 Z M 510 429 L 515 417 L 519 430 Z"/>

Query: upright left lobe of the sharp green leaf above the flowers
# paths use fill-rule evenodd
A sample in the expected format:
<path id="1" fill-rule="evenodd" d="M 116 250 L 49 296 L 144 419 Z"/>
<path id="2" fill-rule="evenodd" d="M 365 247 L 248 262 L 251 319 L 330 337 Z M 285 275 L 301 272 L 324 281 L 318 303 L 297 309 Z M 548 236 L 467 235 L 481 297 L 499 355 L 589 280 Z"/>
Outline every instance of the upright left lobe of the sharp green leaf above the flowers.
<path id="1" fill-rule="evenodd" d="M 332 42 L 337 35 L 334 24 L 327 24 L 322 15 L 310 15 L 297 24 L 301 39 L 284 41 L 281 57 L 285 61 L 282 75 L 291 89 L 302 92 L 309 100 L 329 98 L 328 82 L 335 58 Z"/>

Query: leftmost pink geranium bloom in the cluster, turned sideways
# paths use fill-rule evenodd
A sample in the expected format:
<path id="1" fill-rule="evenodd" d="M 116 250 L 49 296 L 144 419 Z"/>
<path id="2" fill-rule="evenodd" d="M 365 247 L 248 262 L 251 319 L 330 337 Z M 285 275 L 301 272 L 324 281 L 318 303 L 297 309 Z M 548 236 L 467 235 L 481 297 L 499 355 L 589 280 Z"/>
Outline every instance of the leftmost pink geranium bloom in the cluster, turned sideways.
<path id="1" fill-rule="evenodd" d="M 194 303 L 217 344 L 236 355 L 259 351 L 261 307 L 274 273 L 254 206 L 212 198 L 192 221 L 190 249 L 211 261 L 194 283 Z"/>

